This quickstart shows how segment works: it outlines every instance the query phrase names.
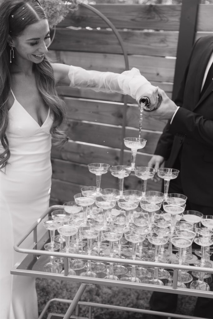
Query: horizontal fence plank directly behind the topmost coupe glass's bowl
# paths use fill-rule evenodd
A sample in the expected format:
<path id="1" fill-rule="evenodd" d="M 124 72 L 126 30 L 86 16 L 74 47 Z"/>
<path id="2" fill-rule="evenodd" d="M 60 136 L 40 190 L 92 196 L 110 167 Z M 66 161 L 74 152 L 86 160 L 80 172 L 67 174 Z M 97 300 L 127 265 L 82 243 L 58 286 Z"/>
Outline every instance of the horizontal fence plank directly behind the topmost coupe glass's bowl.
<path id="1" fill-rule="evenodd" d="M 92 122 L 68 120 L 63 129 L 72 140 L 120 148 L 123 143 L 122 128 L 114 125 L 102 125 Z M 138 137 L 139 130 L 126 127 L 126 137 Z M 161 132 L 141 130 L 141 137 L 147 140 L 144 153 L 153 153 Z"/>

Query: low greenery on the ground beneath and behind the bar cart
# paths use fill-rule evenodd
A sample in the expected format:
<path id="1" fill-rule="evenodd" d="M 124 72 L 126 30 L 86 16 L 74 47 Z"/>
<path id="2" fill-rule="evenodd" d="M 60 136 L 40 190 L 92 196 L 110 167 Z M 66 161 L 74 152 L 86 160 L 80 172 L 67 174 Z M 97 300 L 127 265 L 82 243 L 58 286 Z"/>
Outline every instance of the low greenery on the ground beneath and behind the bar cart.
<path id="1" fill-rule="evenodd" d="M 38 294 L 39 313 L 43 310 L 45 304 L 53 298 L 72 300 L 80 284 L 65 280 L 52 280 L 37 278 L 36 289 Z M 90 301 L 96 303 L 110 304 L 115 306 L 149 309 L 150 291 L 119 288 L 115 286 L 87 286 L 81 301 Z M 193 315 L 196 297 L 178 296 L 178 313 L 184 315 Z M 48 313 L 65 314 L 69 304 L 51 302 L 47 313 L 43 319 L 47 318 Z M 88 316 L 88 307 L 80 306 L 80 316 Z M 92 308 L 92 318 L 95 319 L 143 319 L 146 315 L 134 312 L 115 311 L 105 308 Z"/>

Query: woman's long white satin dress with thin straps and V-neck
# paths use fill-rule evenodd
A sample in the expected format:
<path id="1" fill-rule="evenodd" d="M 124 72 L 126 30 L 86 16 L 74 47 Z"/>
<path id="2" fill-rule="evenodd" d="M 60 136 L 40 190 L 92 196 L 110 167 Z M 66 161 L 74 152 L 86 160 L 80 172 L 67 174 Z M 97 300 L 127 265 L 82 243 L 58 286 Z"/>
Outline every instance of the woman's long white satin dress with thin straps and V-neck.
<path id="1" fill-rule="evenodd" d="M 38 318 L 35 279 L 10 275 L 13 265 L 26 257 L 13 249 L 27 230 L 49 207 L 52 168 L 50 162 L 53 119 L 50 111 L 40 125 L 16 100 L 9 110 L 6 136 L 11 157 L 0 172 L 0 318 Z M 0 146 L 0 152 L 4 149 Z M 32 244 L 32 241 L 31 241 Z M 27 244 L 23 246 L 27 247 Z"/>

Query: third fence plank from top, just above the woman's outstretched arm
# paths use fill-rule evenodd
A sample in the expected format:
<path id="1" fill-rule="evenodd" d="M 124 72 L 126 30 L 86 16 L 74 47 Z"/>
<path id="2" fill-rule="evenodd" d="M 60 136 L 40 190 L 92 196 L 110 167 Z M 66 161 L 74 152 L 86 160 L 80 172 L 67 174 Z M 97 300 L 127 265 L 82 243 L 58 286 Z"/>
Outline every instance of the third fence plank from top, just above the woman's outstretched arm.
<path id="1" fill-rule="evenodd" d="M 124 57 L 117 54 L 49 50 L 49 57 L 55 63 L 76 65 L 86 70 L 116 73 L 125 70 Z M 138 68 L 149 81 L 173 82 L 176 59 L 129 55 L 128 60 L 129 69 Z"/>

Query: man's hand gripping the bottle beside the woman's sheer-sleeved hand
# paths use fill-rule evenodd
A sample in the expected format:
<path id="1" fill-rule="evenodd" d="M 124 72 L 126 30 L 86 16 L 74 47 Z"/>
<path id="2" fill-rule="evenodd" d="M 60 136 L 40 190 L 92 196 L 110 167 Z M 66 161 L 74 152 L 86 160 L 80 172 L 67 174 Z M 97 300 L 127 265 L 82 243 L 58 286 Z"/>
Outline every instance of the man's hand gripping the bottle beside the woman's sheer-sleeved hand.
<path id="1" fill-rule="evenodd" d="M 172 100 L 170 100 L 164 90 L 160 89 L 159 87 L 157 88 L 158 93 L 162 97 L 161 105 L 159 108 L 151 112 L 144 110 L 144 113 L 159 120 L 170 120 L 178 107 Z"/>

